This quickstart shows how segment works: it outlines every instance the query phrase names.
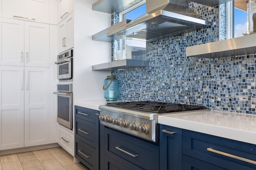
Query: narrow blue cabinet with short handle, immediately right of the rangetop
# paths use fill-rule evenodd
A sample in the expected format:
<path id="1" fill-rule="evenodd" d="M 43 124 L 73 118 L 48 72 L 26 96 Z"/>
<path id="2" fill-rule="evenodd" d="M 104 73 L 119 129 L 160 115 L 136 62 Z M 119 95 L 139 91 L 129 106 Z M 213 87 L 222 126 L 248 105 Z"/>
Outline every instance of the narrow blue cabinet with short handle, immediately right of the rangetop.
<path id="1" fill-rule="evenodd" d="M 182 169 L 182 129 L 160 125 L 160 170 Z"/>

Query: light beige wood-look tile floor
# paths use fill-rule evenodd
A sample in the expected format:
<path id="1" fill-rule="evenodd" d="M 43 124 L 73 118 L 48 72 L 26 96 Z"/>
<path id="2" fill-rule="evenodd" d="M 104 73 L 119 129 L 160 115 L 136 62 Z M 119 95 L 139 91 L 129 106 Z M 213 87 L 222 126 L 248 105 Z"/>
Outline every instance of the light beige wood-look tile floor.
<path id="1" fill-rule="evenodd" d="M 0 156 L 0 170 L 87 170 L 62 148 Z"/>

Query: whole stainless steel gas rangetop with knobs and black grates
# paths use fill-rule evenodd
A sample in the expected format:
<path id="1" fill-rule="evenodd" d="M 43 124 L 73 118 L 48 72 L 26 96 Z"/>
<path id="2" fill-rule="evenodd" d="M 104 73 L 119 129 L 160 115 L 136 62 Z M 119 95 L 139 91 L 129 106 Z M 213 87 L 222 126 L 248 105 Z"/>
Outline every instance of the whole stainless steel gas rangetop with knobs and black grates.
<path id="1" fill-rule="evenodd" d="M 104 126 L 158 142 L 159 114 L 175 114 L 207 109 L 204 106 L 166 102 L 113 102 L 101 105 L 99 120 Z"/>

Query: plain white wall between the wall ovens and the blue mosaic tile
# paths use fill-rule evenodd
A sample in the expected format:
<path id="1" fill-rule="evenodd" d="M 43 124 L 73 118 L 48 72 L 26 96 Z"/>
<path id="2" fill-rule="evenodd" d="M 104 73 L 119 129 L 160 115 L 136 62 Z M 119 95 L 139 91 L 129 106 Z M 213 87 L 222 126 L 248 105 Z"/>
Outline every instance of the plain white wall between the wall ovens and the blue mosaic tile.
<path id="1" fill-rule="evenodd" d="M 111 25 L 111 14 L 93 11 L 97 0 L 74 0 L 74 101 L 104 100 L 104 79 L 110 71 L 92 65 L 111 61 L 111 43 L 92 41 L 92 35 Z"/>

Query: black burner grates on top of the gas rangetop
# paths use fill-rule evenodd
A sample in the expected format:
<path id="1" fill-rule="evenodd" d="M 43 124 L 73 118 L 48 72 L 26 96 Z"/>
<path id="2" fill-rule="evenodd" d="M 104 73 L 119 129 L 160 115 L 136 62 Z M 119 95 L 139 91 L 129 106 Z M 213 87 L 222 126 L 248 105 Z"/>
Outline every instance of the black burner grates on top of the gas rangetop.
<path id="1" fill-rule="evenodd" d="M 194 106 L 187 104 L 172 104 L 167 102 L 150 102 L 150 101 L 141 101 L 141 102 L 113 102 L 107 103 L 108 106 L 122 107 L 127 109 L 135 109 L 140 111 L 148 111 L 154 113 L 169 113 L 169 112 L 178 112 L 178 111 L 190 111 L 190 110 L 200 110 L 207 109 L 204 106 Z"/>

